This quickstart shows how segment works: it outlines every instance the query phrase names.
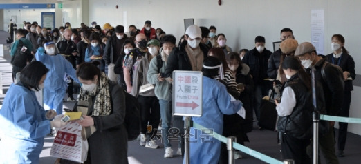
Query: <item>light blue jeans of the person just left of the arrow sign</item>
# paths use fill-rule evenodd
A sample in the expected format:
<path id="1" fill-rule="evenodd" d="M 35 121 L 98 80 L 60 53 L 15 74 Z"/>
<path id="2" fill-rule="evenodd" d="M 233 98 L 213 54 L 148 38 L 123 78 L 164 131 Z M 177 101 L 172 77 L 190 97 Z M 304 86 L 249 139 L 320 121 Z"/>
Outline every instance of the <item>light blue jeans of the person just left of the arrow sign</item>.
<path id="1" fill-rule="evenodd" d="M 162 119 L 162 140 L 164 147 L 172 147 L 168 140 L 169 128 L 172 122 L 172 109 L 169 108 L 168 101 L 159 99 L 160 118 Z"/>

